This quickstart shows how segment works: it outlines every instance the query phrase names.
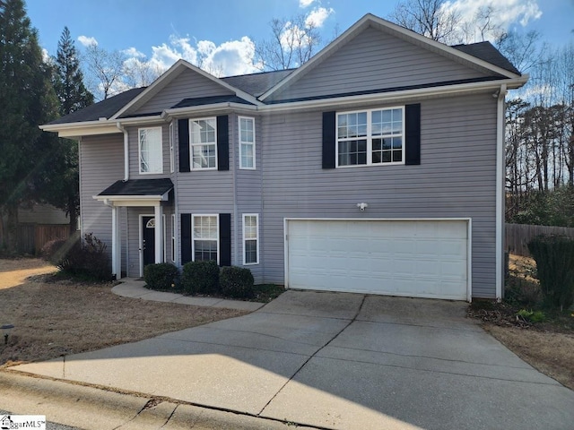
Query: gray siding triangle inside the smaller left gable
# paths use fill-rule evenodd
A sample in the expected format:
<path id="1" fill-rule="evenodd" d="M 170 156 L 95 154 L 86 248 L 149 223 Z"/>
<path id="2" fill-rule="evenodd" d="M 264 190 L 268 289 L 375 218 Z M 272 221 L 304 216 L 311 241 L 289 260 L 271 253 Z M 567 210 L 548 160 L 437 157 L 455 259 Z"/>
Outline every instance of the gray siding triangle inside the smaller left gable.
<path id="1" fill-rule="evenodd" d="M 150 114 L 161 112 L 177 105 L 183 99 L 194 99 L 209 96 L 224 96 L 234 94 L 217 82 L 202 76 L 192 70 L 186 70 L 171 81 L 152 99 L 135 110 L 134 114 Z"/>

